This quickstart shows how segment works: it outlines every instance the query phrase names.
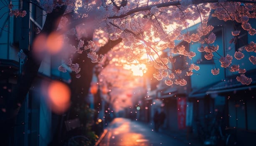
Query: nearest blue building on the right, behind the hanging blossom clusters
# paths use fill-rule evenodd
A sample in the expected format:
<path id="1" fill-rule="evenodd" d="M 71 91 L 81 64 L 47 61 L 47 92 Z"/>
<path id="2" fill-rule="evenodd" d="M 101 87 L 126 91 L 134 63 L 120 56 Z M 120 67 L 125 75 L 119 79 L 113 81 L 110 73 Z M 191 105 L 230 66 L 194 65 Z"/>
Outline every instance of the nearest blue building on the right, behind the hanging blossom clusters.
<path id="1" fill-rule="evenodd" d="M 251 21 L 252 27 L 256 28 L 256 20 Z M 253 137 L 256 136 L 255 123 L 256 119 L 256 100 L 255 100 L 255 71 L 256 66 L 253 65 L 248 58 L 255 53 L 248 53 L 244 47 L 251 41 L 255 42 L 255 36 L 249 35 L 247 31 L 241 28 L 241 24 L 234 22 L 224 22 L 217 18 L 210 18 L 208 24 L 215 28 L 213 33 L 216 40 L 213 45 L 218 45 L 218 54 L 222 56 L 234 55 L 235 51 L 242 51 L 244 58 L 237 60 L 233 57 L 231 65 L 239 65 L 241 69 L 247 71 L 245 75 L 252 78 L 250 85 L 242 85 L 236 80 L 238 72 L 231 72 L 230 67 L 221 68 L 218 60 L 206 60 L 205 53 L 198 52 L 195 56 L 200 70 L 197 72 L 199 76 L 191 76 L 192 92 L 189 95 L 189 101 L 193 103 L 193 130 L 198 131 L 198 121 L 204 127 L 213 125 L 213 120 L 218 121 L 224 133 L 232 133 L 238 145 L 255 145 Z M 196 29 L 196 25 L 191 27 L 191 31 Z M 236 38 L 236 43 L 230 43 L 233 39 L 231 31 L 240 30 L 240 35 Z M 200 44 L 190 43 L 190 50 L 197 51 Z M 215 54 L 216 55 L 216 54 Z M 217 55 L 216 55 L 217 56 Z M 220 69 L 220 73 L 216 76 L 210 73 L 215 66 Z M 207 129 L 207 128 L 205 128 Z M 207 130 L 206 130 L 207 131 Z"/>

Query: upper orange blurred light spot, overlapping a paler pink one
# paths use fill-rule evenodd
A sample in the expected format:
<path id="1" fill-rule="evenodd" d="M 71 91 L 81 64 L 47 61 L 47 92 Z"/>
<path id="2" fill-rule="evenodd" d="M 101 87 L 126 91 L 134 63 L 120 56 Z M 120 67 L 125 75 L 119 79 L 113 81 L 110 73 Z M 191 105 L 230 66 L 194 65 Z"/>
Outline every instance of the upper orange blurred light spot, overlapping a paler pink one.
<path id="1" fill-rule="evenodd" d="M 62 35 L 59 35 L 58 33 L 51 33 L 46 40 L 46 46 L 47 46 L 48 53 L 50 54 L 58 53 L 63 46 Z"/>

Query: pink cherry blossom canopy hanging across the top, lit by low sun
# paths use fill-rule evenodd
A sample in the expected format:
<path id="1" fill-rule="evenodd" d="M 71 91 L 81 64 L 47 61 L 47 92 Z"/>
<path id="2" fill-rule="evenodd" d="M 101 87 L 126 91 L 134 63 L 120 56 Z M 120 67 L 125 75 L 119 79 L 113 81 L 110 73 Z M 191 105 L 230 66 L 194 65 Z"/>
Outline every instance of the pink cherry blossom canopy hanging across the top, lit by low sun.
<path id="1" fill-rule="evenodd" d="M 95 29 L 96 31 L 102 32 L 102 34 L 107 34 L 104 35 L 106 40 L 122 38 L 121 45 L 125 48 L 123 53 L 127 55 L 127 62 L 140 61 L 142 54 L 147 55 L 147 59 L 151 60 L 148 61 L 148 64 L 151 64 L 157 70 L 153 76 L 157 80 L 167 78 L 165 84 L 168 86 L 173 84 L 184 86 L 187 82 L 181 76 L 185 74 L 186 76 L 192 76 L 193 70 L 199 70 L 199 66 L 194 63 L 191 65 L 187 64 L 185 69 L 183 68 L 184 66 L 173 70 L 170 69 L 169 63 L 175 64 L 175 58 L 172 58 L 170 54 L 185 56 L 186 58 L 190 58 L 191 61 L 193 61 L 192 58 L 196 55 L 187 46 L 177 45 L 177 40 L 185 41 L 188 44 L 193 44 L 194 42 L 200 43 L 201 46 L 198 48 L 198 51 L 205 53 L 205 59 L 213 60 L 213 57 L 214 59 L 220 58 L 221 67 L 228 68 L 231 72 L 238 71 L 238 73 L 245 73 L 246 70 L 240 69 L 239 65 L 231 64 L 233 60 L 231 55 L 222 57 L 217 53 L 219 46 L 214 44 L 216 40 L 216 35 L 212 33 L 214 27 L 208 25 L 207 20 L 210 11 L 213 10 L 213 17 L 224 21 L 233 20 L 241 23 L 244 30 L 248 31 L 250 35 L 254 35 L 256 31 L 249 23 L 249 19 L 256 17 L 254 12 L 256 5 L 248 3 L 241 6 L 241 3 L 226 3 L 225 0 L 220 0 L 220 3 L 211 3 L 210 6 L 204 3 L 193 6 L 193 0 L 179 0 L 179 2 L 180 5 L 178 6 L 159 7 L 157 4 L 169 3 L 169 1 L 153 0 L 146 4 L 143 1 L 136 0 L 129 1 L 128 5 L 116 7 L 110 1 L 104 3 L 103 1 L 91 2 L 83 0 L 42 0 L 40 5 L 47 13 L 50 13 L 56 6 L 68 5 L 68 10 L 74 10 L 74 20 L 88 18 L 90 23 L 95 22 L 92 23 L 95 25 L 89 25 L 88 23 L 88 26 L 81 25 L 80 27 L 84 28 L 86 26 L 92 30 Z M 137 11 L 140 8 L 144 9 Z M 201 19 L 201 24 L 198 25 L 196 30 L 197 32 L 189 32 L 188 22 L 197 19 Z M 64 26 L 67 23 L 69 23 L 67 18 L 61 18 L 61 25 Z M 101 62 L 104 56 L 96 53 L 98 47 L 94 42 L 95 40 L 88 42 L 80 40 L 81 37 L 78 34 L 80 30 L 78 30 L 78 27 L 76 26 L 76 29 L 69 30 L 70 33 L 78 36 L 77 45 L 71 45 L 70 47 L 71 53 L 87 53 L 87 57 L 91 59 L 92 63 Z M 237 38 L 240 32 L 240 30 L 233 30 L 231 33 L 234 38 Z M 82 35 L 85 34 L 83 33 Z M 86 35 L 88 35 L 87 32 Z M 234 42 L 236 42 L 235 39 Z M 249 43 L 245 46 L 244 50 L 256 52 L 255 43 Z M 160 52 L 167 52 L 169 56 L 162 57 Z M 234 58 L 237 60 L 243 59 L 244 56 L 242 50 L 236 51 L 234 54 Z M 253 55 L 250 56 L 249 60 L 253 64 L 256 64 L 256 57 Z M 77 74 L 79 73 L 80 67 L 78 64 L 72 63 L 71 60 L 66 64 L 72 71 Z M 59 70 L 66 71 L 63 66 L 60 66 Z M 219 68 L 211 70 L 213 75 L 218 75 L 219 72 Z M 245 83 L 243 79 L 240 79 L 240 81 Z"/>

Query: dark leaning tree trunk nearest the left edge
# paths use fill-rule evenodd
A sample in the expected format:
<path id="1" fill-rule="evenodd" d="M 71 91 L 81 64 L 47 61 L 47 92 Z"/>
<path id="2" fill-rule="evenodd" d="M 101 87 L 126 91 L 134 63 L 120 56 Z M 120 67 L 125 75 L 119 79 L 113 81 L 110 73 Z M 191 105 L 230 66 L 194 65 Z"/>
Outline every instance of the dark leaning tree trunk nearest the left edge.
<path id="1" fill-rule="evenodd" d="M 53 31 L 56 31 L 60 20 L 58 18 L 63 15 L 65 10 L 66 6 L 57 7 L 53 10 L 52 13 L 48 14 L 41 33 L 49 35 Z M 25 48 L 25 50 L 28 50 L 28 48 Z M 19 108 L 25 101 L 26 95 L 33 83 L 33 80 L 36 78 L 38 69 L 41 65 L 42 60 L 38 61 L 38 58 L 35 58 L 32 55 L 32 52 L 33 48 L 31 48 L 30 51 L 27 51 L 28 57 L 22 68 L 22 72 L 18 76 L 17 84 L 12 91 L 12 96 L 8 99 L 7 103 L 5 103 L 6 112 L 0 112 L 0 129 L 2 129 L 1 138 L 3 138 L 2 133 L 6 132 L 5 130 L 10 131 L 10 128 L 14 126 L 15 118 L 18 114 Z M 8 141 L 8 134 L 5 134 L 5 137 L 7 138 L 5 141 Z"/>

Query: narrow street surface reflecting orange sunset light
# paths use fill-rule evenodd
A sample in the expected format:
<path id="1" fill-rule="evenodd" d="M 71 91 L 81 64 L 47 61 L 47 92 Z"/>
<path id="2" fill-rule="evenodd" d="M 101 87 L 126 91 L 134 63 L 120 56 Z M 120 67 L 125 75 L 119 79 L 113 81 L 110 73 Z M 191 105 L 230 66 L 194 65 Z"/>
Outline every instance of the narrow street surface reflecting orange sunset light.
<path id="1" fill-rule="evenodd" d="M 161 132 L 155 132 L 147 124 L 126 118 L 115 118 L 107 127 L 107 133 L 99 146 L 188 146 Z"/>

